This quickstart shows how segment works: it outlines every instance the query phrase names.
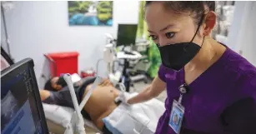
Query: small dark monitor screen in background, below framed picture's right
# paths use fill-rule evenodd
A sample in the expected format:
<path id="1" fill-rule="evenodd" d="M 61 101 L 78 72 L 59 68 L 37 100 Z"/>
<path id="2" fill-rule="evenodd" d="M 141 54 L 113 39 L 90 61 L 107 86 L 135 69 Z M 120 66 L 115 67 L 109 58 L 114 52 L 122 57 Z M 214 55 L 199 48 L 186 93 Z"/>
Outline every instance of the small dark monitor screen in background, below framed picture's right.
<path id="1" fill-rule="evenodd" d="M 118 46 L 135 44 L 137 35 L 137 24 L 118 24 Z"/>

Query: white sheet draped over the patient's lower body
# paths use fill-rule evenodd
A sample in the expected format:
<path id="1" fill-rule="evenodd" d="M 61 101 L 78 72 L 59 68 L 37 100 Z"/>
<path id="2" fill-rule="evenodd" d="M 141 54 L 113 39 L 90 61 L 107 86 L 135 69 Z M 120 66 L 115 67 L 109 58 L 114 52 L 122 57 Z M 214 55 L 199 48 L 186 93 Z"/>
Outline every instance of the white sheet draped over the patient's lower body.
<path id="1" fill-rule="evenodd" d="M 138 93 L 133 93 L 131 97 Z M 103 119 L 105 126 L 113 134 L 151 134 L 163 115 L 164 104 L 157 99 L 127 107 L 120 104 L 108 117 Z"/>

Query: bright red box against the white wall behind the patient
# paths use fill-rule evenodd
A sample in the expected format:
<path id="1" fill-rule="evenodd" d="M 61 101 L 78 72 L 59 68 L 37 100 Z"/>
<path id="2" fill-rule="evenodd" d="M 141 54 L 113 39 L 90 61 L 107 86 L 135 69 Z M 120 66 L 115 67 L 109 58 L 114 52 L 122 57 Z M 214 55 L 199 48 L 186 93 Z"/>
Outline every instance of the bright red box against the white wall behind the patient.
<path id="1" fill-rule="evenodd" d="M 78 56 L 78 52 L 48 53 L 48 57 L 53 59 L 50 65 L 52 76 L 59 77 L 63 73 L 78 73 Z"/>

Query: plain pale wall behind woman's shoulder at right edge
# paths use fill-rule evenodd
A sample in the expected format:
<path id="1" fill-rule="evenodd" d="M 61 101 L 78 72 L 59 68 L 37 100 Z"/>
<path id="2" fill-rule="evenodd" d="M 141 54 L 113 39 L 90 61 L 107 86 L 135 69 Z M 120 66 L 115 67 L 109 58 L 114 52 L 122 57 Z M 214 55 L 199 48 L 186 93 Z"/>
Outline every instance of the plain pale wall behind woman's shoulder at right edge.
<path id="1" fill-rule="evenodd" d="M 256 66 L 256 2 L 235 2 L 228 46 Z"/>

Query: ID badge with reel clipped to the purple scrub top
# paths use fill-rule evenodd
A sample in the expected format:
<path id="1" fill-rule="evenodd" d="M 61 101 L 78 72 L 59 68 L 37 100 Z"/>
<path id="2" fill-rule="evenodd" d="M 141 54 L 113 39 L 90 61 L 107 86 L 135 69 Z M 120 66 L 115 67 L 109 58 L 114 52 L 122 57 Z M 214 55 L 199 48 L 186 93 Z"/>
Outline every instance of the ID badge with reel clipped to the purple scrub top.
<path id="1" fill-rule="evenodd" d="M 180 129 L 182 127 L 185 108 L 182 106 L 181 103 L 183 99 L 183 94 L 188 92 L 187 85 L 183 84 L 182 86 L 180 86 L 179 92 L 181 93 L 178 98 L 178 102 L 176 100 L 173 100 L 172 111 L 168 122 L 169 127 L 171 127 L 173 131 L 176 132 L 177 134 L 179 134 Z"/>

